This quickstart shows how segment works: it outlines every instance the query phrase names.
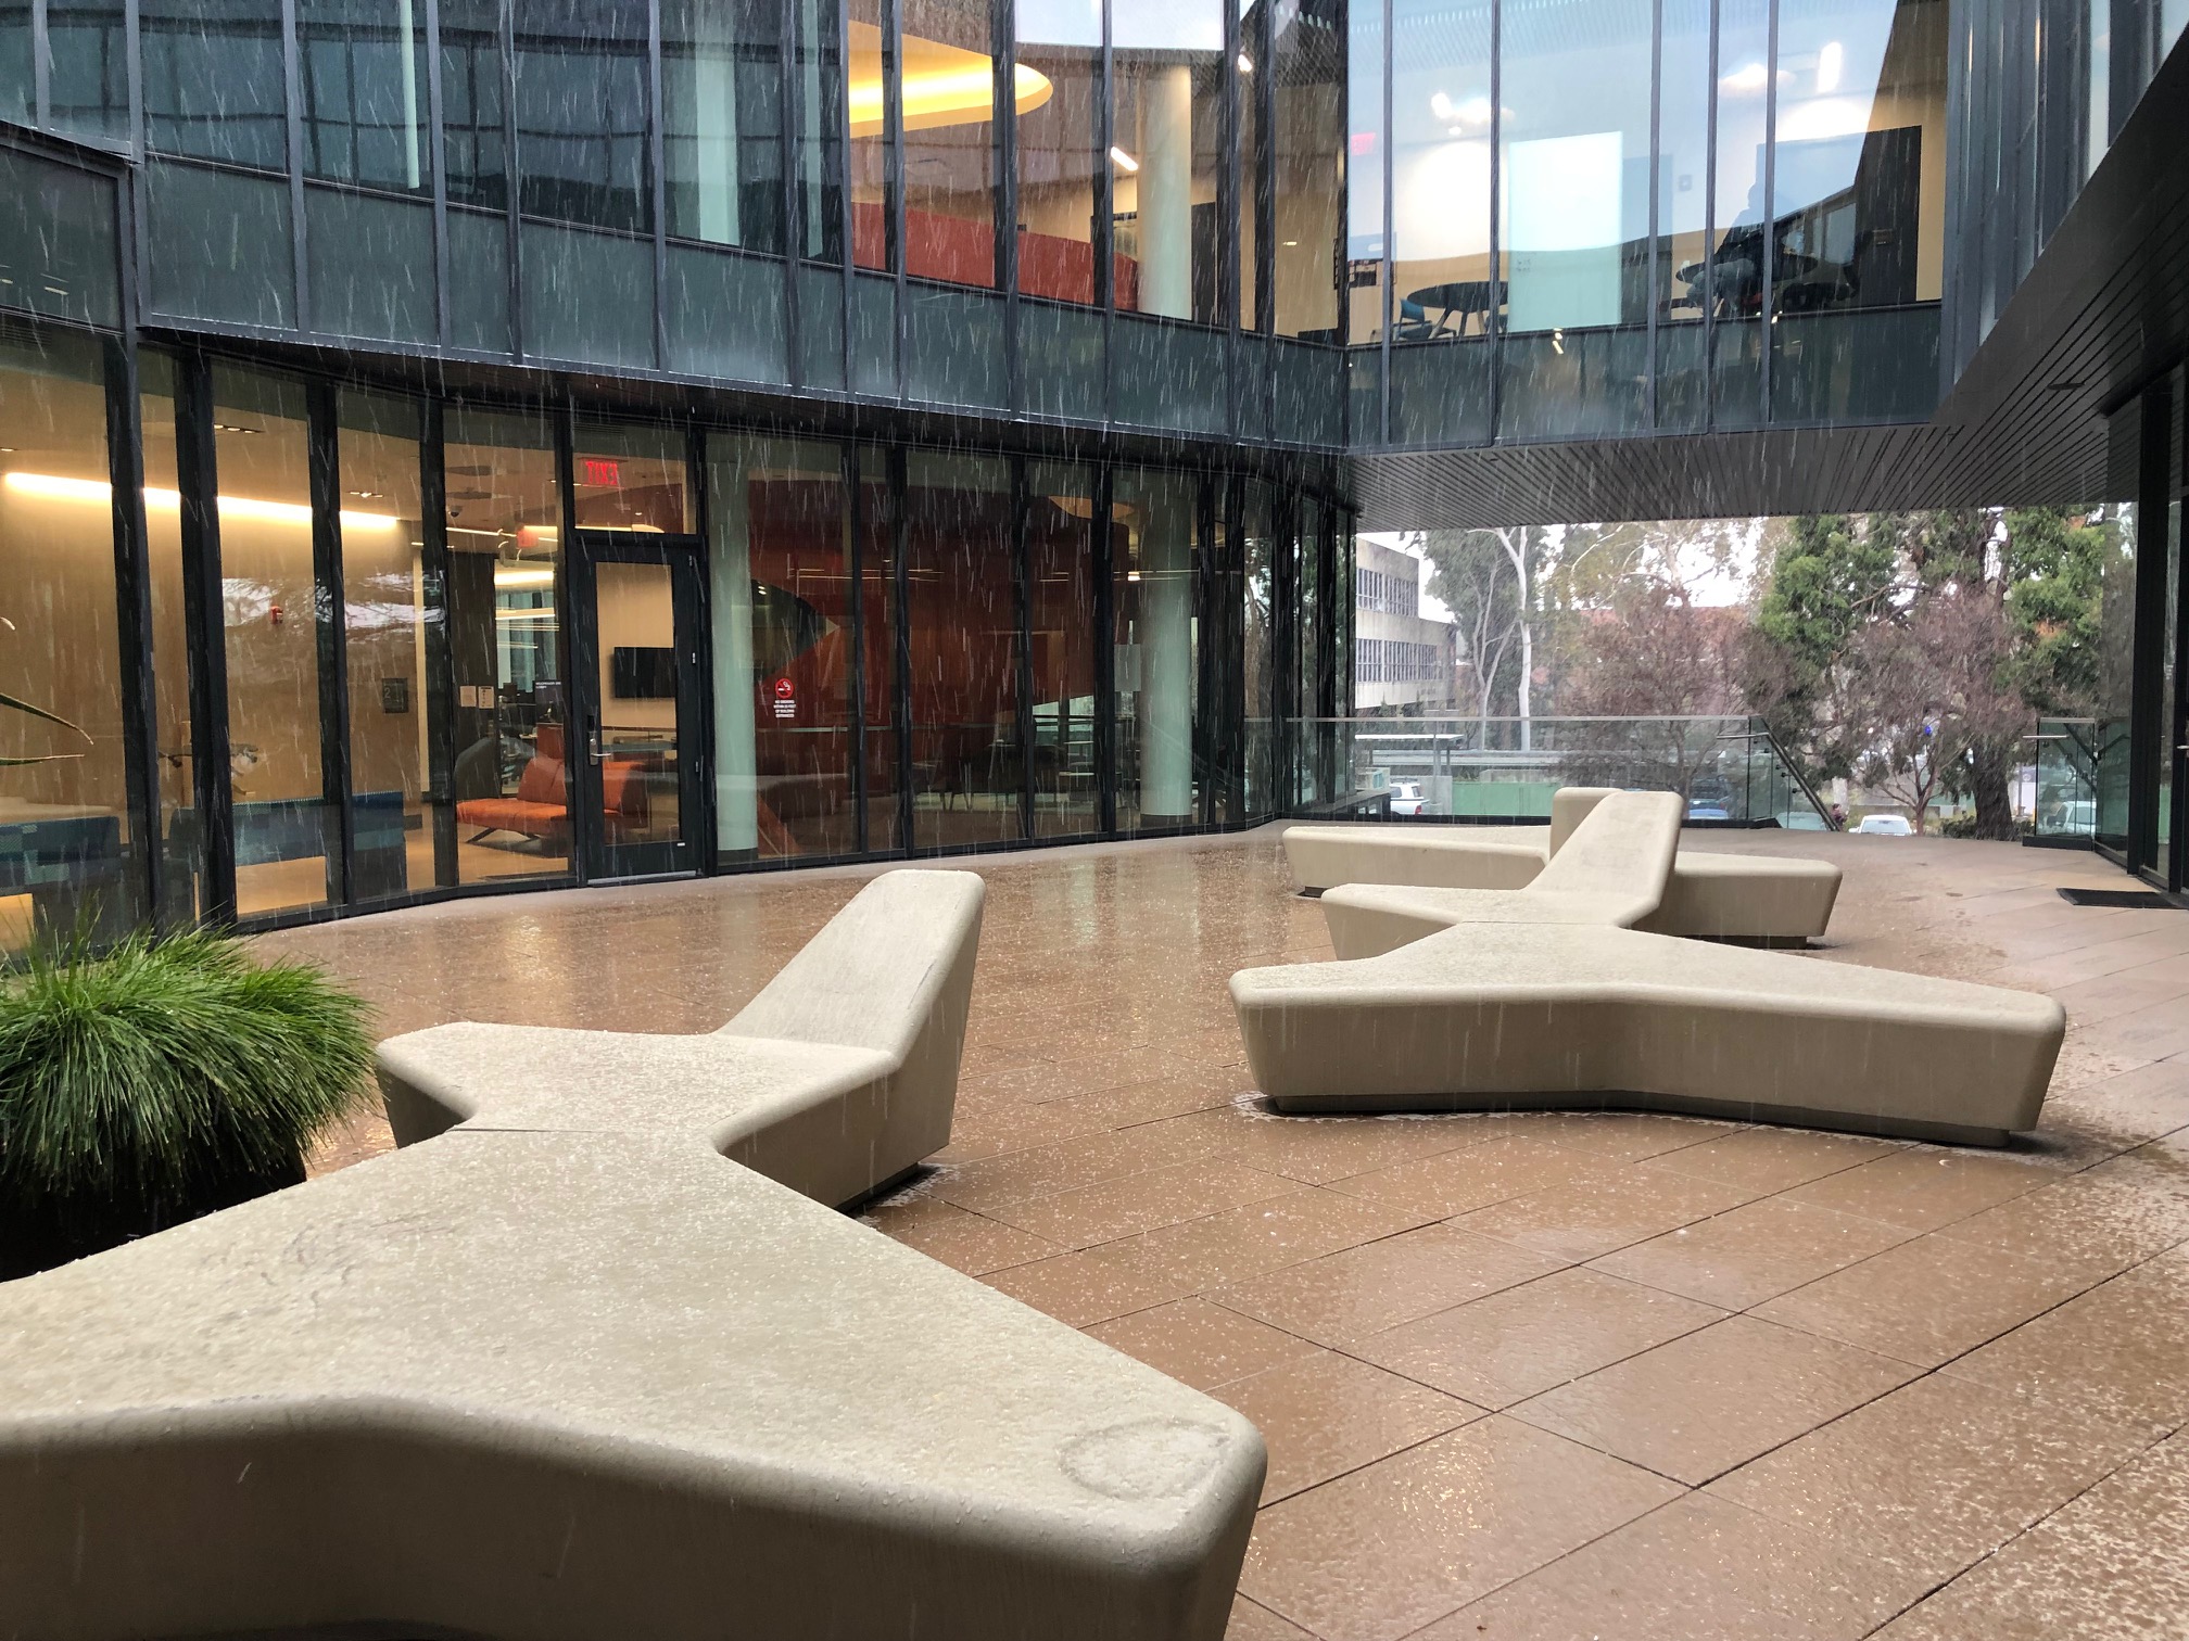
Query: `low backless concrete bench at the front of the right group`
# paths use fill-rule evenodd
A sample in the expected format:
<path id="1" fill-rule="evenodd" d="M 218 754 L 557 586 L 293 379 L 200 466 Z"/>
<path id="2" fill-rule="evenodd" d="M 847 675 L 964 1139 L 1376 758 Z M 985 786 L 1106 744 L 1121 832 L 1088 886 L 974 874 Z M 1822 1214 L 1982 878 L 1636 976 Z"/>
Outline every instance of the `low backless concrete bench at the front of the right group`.
<path id="1" fill-rule="evenodd" d="M 1613 926 L 1473 921 L 1243 969 L 1281 1112 L 1624 1107 L 2003 1144 L 2036 1127 L 2051 998 Z"/>

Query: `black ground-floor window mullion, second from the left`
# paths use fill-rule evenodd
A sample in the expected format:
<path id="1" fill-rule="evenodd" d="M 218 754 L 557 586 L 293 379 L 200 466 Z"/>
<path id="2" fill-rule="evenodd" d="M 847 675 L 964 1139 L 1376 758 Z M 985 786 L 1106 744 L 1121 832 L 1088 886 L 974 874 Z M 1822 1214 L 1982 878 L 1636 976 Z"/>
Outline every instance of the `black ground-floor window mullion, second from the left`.
<path id="1" fill-rule="evenodd" d="M 175 361 L 175 484 L 182 490 L 182 619 L 190 663 L 190 783 L 199 827 L 199 915 L 236 921 L 234 785 L 228 748 L 228 632 L 221 610 L 221 514 L 215 497 L 212 370 Z"/>

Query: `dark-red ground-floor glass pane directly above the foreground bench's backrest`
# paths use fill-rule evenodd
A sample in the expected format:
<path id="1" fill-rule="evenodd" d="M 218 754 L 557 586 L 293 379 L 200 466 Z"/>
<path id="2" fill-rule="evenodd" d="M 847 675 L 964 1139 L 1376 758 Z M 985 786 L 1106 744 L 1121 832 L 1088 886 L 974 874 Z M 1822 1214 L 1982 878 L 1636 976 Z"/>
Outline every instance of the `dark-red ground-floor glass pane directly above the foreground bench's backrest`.
<path id="1" fill-rule="evenodd" d="M 904 481 L 913 849 L 1022 836 L 1011 468 L 913 451 Z"/>

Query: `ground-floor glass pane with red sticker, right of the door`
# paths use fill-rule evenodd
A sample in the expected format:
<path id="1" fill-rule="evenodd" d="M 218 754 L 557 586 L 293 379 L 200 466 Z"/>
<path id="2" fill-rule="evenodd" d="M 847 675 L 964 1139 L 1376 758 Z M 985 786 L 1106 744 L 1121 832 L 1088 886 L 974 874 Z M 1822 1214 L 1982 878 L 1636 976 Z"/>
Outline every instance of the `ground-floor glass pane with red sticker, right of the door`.
<path id="1" fill-rule="evenodd" d="M 716 842 L 727 860 L 858 849 L 852 516 L 834 444 L 707 438 Z"/>

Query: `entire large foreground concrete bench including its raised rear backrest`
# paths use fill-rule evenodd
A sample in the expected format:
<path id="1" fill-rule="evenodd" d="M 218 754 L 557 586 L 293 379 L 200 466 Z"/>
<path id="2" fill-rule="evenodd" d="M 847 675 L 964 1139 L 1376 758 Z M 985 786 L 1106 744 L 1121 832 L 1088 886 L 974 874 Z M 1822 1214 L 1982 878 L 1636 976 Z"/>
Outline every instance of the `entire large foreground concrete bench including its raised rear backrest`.
<path id="1" fill-rule="evenodd" d="M 403 1149 L 0 1284 L 0 1628 L 1219 1641 L 1252 1424 L 823 1206 L 948 1138 L 978 910 L 889 873 L 725 1035 L 416 1033 Z"/>

